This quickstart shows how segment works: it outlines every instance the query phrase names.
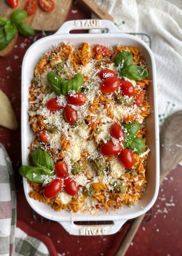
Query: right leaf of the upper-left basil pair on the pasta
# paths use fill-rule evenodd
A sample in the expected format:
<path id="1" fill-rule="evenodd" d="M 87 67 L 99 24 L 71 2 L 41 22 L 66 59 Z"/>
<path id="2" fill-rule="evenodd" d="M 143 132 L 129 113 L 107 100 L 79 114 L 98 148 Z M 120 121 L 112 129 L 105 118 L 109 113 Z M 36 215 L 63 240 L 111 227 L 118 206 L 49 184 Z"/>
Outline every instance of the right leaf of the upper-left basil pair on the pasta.
<path id="1" fill-rule="evenodd" d="M 66 95 L 69 91 L 74 90 L 76 92 L 82 91 L 83 76 L 81 73 L 77 73 L 73 79 L 67 80 L 62 84 L 63 95 Z"/>

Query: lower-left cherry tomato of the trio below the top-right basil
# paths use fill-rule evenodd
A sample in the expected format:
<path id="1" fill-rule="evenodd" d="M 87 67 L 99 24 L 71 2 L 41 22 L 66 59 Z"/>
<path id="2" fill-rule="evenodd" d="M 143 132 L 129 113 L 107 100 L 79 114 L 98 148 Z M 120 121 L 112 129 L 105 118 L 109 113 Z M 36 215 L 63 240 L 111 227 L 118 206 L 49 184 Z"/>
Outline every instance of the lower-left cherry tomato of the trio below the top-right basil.
<path id="1" fill-rule="evenodd" d="M 101 82 L 100 91 L 101 93 L 104 93 L 104 94 L 115 92 L 116 90 L 118 90 L 119 86 L 120 86 L 120 81 L 118 78 L 108 77 L 106 78 L 106 80 Z"/>

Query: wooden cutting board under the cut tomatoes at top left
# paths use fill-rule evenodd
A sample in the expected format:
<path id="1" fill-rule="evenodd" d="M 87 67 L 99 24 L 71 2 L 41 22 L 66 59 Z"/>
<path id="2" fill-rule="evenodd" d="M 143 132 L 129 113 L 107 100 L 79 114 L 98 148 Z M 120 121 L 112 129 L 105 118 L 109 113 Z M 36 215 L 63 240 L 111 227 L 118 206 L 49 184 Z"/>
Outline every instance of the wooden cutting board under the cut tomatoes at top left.
<path id="1" fill-rule="evenodd" d="M 72 0 L 54 0 L 55 8 L 52 12 L 45 12 L 35 0 L 37 10 L 35 14 L 28 15 L 23 22 L 28 23 L 35 30 L 56 31 L 63 24 L 68 11 L 70 9 Z M 16 9 L 24 9 L 27 0 L 19 0 L 16 8 L 11 8 L 6 0 L 1 0 L 0 16 L 9 19 L 10 14 Z"/>

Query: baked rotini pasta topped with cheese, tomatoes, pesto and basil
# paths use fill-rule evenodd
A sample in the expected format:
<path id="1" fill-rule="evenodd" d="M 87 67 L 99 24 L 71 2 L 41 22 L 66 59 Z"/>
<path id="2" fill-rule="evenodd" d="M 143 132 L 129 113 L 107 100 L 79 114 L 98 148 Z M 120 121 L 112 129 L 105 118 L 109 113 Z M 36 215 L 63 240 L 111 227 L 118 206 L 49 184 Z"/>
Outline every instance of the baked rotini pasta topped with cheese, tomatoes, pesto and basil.
<path id="1" fill-rule="evenodd" d="M 54 45 L 29 87 L 31 198 L 94 214 L 135 204 L 146 188 L 147 65 L 135 47 Z"/>

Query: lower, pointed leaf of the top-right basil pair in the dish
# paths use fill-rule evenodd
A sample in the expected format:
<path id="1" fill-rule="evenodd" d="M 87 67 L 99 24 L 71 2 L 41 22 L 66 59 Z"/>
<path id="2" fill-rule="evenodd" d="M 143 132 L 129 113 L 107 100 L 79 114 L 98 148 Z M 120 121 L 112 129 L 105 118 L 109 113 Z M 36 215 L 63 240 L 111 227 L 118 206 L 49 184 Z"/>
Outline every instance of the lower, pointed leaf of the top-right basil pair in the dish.
<path id="1" fill-rule="evenodd" d="M 137 65 L 131 65 L 121 70 L 120 77 L 127 77 L 130 80 L 140 81 L 148 76 L 147 69 Z"/>

